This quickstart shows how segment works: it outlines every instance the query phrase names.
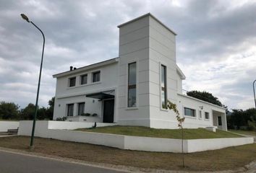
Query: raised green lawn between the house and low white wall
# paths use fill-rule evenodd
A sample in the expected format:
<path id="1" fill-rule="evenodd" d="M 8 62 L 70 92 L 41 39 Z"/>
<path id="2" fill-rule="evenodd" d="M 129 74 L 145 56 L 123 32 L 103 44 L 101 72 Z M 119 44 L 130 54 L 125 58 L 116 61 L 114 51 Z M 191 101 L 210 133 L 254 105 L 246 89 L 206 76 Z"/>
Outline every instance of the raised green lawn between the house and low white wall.
<path id="1" fill-rule="evenodd" d="M 112 133 L 125 136 L 145 136 L 155 138 L 182 138 L 182 130 L 179 129 L 155 129 L 142 126 L 121 126 L 114 125 L 101 128 L 80 128 L 79 131 L 95 133 Z M 205 130 L 204 128 L 184 129 L 184 139 L 197 138 L 239 138 L 242 136 L 229 133 L 223 130 L 217 130 L 216 133 Z"/>

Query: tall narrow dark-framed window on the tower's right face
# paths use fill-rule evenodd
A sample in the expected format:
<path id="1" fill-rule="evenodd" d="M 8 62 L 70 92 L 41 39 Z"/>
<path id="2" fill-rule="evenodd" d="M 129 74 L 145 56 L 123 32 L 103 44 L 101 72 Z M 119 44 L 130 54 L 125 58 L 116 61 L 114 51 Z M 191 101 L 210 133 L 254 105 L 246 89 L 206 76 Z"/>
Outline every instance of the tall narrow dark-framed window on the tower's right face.
<path id="1" fill-rule="evenodd" d="M 163 68 L 163 73 L 162 73 Z M 166 66 L 161 64 L 161 107 L 166 108 L 167 107 L 167 76 L 166 76 Z M 164 76 L 163 76 L 164 75 Z M 162 77 L 163 76 L 163 77 Z M 163 78 L 163 81 L 162 81 Z M 163 86 L 162 86 L 163 82 Z M 164 96 L 162 96 L 162 92 L 164 93 Z M 162 100 L 164 99 L 164 100 Z"/>

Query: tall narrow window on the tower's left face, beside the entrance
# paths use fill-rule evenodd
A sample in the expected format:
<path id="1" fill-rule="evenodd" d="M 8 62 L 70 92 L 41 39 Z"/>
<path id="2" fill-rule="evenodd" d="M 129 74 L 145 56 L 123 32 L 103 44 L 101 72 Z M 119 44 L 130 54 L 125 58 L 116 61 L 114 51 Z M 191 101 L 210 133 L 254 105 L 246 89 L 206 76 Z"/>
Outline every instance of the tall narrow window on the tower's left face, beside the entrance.
<path id="1" fill-rule="evenodd" d="M 128 64 L 128 107 L 136 107 L 136 63 Z"/>

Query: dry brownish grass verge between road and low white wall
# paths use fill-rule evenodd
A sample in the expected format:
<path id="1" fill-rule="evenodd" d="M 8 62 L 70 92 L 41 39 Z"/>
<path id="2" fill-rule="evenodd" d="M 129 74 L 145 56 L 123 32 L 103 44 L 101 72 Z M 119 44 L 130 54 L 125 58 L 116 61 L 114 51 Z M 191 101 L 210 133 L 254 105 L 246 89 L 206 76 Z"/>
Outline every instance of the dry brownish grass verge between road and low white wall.
<path id="1" fill-rule="evenodd" d="M 29 151 L 29 137 L 15 136 L 1 138 L 0 146 Z M 171 146 L 170 146 L 171 147 Z M 47 138 L 35 138 L 35 153 L 50 154 L 82 161 L 124 165 L 151 169 L 182 169 L 182 154 L 129 151 L 88 143 L 74 143 Z M 185 154 L 184 170 L 215 171 L 244 167 L 256 160 L 256 143 Z"/>

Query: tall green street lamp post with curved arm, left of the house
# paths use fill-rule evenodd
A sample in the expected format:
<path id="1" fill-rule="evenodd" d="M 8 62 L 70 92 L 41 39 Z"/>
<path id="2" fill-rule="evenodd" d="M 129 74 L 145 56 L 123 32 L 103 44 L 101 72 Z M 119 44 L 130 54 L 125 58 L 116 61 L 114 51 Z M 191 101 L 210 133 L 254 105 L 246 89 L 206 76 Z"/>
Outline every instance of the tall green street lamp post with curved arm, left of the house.
<path id="1" fill-rule="evenodd" d="M 25 14 L 20 14 L 22 19 L 25 19 L 27 22 L 31 23 L 34 25 L 43 35 L 43 31 L 40 30 L 38 26 L 36 26 L 32 21 L 28 19 L 28 17 Z M 35 134 L 35 120 L 36 120 L 36 115 L 38 114 L 38 96 L 39 96 L 39 90 L 40 90 L 40 79 L 41 79 L 41 72 L 42 72 L 42 66 L 43 66 L 43 51 L 44 51 L 44 44 L 45 44 L 45 37 L 43 35 L 43 50 L 42 50 L 42 57 L 41 57 L 41 63 L 40 63 L 40 72 L 39 72 L 39 79 L 38 79 L 38 92 L 36 94 L 36 101 L 35 101 L 35 115 L 33 119 L 33 128 L 32 128 L 32 133 L 31 133 L 31 139 L 30 139 L 30 149 L 33 150 L 34 148 L 34 134 Z"/>

